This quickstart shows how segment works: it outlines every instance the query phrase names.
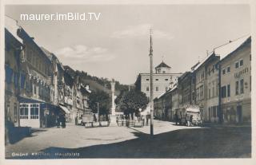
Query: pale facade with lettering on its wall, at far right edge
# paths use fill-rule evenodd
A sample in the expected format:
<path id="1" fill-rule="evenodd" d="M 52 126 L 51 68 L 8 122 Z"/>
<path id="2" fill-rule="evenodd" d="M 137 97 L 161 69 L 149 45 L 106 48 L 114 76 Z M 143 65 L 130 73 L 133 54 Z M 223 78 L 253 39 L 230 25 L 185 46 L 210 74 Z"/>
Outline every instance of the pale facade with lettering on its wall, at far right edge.
<path id="1" fill-rule="evenodd" d="M 251 38 L 220 61 L 224 123 L 251 121 Z"/>

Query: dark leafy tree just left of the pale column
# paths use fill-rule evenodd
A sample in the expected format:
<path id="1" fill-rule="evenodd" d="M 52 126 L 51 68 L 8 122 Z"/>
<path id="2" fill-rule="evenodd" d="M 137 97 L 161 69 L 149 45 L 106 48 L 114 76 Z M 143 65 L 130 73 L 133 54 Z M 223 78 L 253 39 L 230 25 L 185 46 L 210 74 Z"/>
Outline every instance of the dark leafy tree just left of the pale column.
<path id="1" fill-rule="evenodd" d="M 98 103 L 98 104 L 97 104 Z M 110 95 L 104 91 L 92 91 L 89 96 L 89 108 L 94 112 L 98 112 L 99 115 L 108 115 L 110 111 L 111 98 Z"/>

